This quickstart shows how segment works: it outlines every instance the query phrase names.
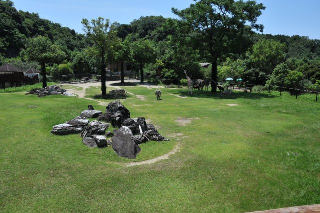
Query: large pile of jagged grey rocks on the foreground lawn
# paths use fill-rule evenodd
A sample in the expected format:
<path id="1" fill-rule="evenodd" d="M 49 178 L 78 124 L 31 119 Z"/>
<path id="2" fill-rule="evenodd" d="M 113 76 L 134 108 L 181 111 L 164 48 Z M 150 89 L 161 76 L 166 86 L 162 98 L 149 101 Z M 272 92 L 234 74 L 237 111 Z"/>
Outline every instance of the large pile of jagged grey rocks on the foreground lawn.
<path id="1" fill-rule="evenodd" d="M 98 121 L 89 122 L 87 118 L 97 118 Z M 105 133 L 110 126 L 109 123 L 119 129 Z M 130 118 L 130 111 L 119 101 L 109 103 L 103 114 L 89 105 L 88 110 L 84 110 L 80 116 L 53 126 L 51 132 L 56 135 L 80 133 L 83 144 L 88 147 L 112 145 L 118 156 L 133 159 L 141 151 L 138 144 L 149 140 L 169 140 L 160 135 L 152 124 L 147 124 L 144 117 Z M 112 138 L 107 139 L 107 137 Z"/>

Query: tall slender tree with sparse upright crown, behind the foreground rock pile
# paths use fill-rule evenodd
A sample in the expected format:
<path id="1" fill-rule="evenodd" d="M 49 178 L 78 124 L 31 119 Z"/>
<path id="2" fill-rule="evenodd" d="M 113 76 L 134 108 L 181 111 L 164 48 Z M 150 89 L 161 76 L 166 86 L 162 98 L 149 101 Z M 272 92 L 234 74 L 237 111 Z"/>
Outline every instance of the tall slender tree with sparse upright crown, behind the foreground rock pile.
<path id="1" fill-rule="evenodd" d="M 88 19 L 83 18 L 81 23 L 84 26 L 84 32 L 94 43 L 94 47 L 101 59 L 101 91 L 102 95 L 106 95 L 105 59 L 110 45 L 110 38 L 108 36 L 109 19 L 104 20 L 104 18 L 98 17 L 96 20 L 92 19 L 91 22 L 89 22 Z"/>

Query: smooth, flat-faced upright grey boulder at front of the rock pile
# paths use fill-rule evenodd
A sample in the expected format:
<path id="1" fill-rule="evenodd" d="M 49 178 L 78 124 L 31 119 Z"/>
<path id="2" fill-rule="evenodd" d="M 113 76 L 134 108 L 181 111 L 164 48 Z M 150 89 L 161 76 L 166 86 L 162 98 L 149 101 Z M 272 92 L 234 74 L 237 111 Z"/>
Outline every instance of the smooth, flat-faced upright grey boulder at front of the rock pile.
<path id="1" fill-rule="evenodd" d="M 112 148 L 118 156 L 135 159 L 141 148 L 135 142 L 130 128 L 123 126 L 112 137 Z"/>

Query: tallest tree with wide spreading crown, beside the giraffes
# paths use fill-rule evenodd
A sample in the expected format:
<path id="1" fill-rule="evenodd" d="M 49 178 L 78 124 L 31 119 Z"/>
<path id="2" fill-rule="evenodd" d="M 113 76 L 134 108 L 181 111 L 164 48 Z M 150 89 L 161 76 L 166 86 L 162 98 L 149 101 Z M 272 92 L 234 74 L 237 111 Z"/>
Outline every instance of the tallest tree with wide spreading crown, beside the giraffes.
<path id="1" fill-rule="evenodd" d="M 178 15 L 185 26 L 189 26 L 193 38 L 205 45 L 212 63 L 211 79 L 217 82 L 217 61 L 223 54 L 242 49 L 246 32 L 252 29 L 263 31 L 263 25 L 256 24 L 262 14 L 263 4 L 255 1 L 195 0 L 189 8 L 172 12 Z M 250 26 L 245 24 L 250 23 Z M 211 92 L 216 92 L 212 86 Z"/>

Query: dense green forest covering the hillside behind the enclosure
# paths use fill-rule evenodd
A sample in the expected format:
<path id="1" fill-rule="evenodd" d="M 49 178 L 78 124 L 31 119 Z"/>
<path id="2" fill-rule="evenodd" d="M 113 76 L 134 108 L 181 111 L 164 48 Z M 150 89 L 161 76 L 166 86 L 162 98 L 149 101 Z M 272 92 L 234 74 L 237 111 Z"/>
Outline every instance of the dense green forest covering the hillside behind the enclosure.
<path id="1" fill-rule="evenodd" d="M 264 9 L 262 5 L 256 11 L 261 9 Z M 181 19 L 142 16 L 130 24 L 109 23 L 103 19 L 107 34 L 105 62 L 125 61 L 131 64 L 132 70 L 144 69 L 144 73 L 165 79 L 185 78 L 183 70 L 193 79 L 211 78 L 210 69 L 201 68 L 199 63 L 211 63 L 209 55 L 213 53 L 205 47 L 203 39 L 199 39 L 201 32 L 187 31 L 181 21 L 189 10 L 172 11 Z M 40 69 L 44 64 L 49 75 L 99 74 L 101 58 L 94 48 L 94 40 L 90 39 L 90 22 L 85 20 L 82 23 L 88 31 L 79 34 L 41 19 L 37 13 L 17 11 L 12 1 L 0 0 L 0 65 L 9 63 L 22 69 Z M 242 78 L 247 84 L 320 91 L 320 40 L 299 35 L 260 34 L 257 31 L 262 31 L 263 26 L 255 25 L 259 30 L 254 31 L 246 27 L 243 26 L 241 32 L 234 30 L 233 37 L 223 40 L 230 45 L 222 45 L 225 49 L 221 49 L 216 60 L 219 82 L 232 77 Z M 49 40 L 52 48 L 60 51 L 56 60 L 47 59 L 41 64 L 27 57 L 31 40 L 38 37 L 43 42 Z M 239 37 L 241 40 L 237 40 Z"/>

